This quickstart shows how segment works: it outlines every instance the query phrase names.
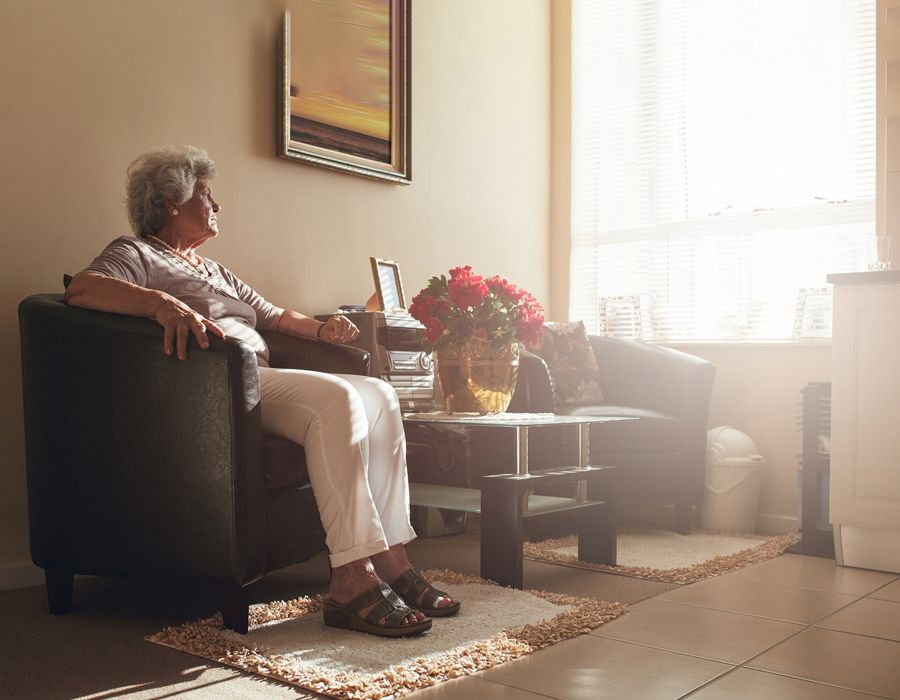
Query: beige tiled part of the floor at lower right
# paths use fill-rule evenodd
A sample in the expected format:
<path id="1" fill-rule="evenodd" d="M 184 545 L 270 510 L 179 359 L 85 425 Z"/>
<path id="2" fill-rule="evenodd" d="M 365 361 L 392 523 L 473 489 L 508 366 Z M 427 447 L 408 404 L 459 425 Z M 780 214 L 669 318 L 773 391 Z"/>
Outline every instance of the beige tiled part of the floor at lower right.
<path id="1" fill-rule="evenodd" d="M 414 697 L 900 699 L 900 576 L 786 554 Z"/>

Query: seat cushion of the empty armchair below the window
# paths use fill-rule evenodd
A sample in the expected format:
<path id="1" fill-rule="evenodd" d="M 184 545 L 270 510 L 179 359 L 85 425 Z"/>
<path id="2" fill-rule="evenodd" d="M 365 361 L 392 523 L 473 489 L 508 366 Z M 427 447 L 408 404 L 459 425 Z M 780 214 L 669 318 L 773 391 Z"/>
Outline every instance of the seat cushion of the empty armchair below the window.
<path id="1" fill-rule="evenodd" d="M 593 424 L 592 454 L 663 453 L 678 452 L 684 448 L 684 421 L 667 413 L 629 406 L 606 405 L 575 406 L 559 413 L 570 416 L 626 416 L 637 419 Z"/>

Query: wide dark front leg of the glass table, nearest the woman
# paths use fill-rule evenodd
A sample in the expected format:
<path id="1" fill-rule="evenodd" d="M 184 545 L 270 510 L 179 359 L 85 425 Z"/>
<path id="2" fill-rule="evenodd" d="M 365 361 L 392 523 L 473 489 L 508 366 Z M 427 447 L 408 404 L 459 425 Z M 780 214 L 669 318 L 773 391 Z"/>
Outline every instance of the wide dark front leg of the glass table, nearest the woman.
<path id="1" fill-rule="evenodd" d="M 515 481 L 486 476 L 481 483 L 481 577 L 522 588 L 523 496 Z"/>

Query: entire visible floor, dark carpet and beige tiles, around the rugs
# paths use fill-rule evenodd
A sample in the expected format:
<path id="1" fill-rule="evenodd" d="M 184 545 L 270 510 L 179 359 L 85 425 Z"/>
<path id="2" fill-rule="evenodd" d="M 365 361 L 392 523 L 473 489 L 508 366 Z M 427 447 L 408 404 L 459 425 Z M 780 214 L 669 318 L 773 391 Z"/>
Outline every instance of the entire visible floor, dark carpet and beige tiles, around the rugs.
<path id="1" fill-rule="evenodd" d="M 477 574 L 476 536 L 415 540 L 422 568 Z M 690 586 L 525 562 L 526 585 L 630 604 L 589 634 L 411 700 L 900 699 L 900 575 L 786 554 Z M 320 592 L 324 556 L 276 572 L 254 602 Z M 211 615 L 202 582 L 85 578 L 48 615 L 40 587 L 0 592 L 0 698 L 321 698 L 148 644 Z M 47 669 L 52 672 L 48 673 Z"/>

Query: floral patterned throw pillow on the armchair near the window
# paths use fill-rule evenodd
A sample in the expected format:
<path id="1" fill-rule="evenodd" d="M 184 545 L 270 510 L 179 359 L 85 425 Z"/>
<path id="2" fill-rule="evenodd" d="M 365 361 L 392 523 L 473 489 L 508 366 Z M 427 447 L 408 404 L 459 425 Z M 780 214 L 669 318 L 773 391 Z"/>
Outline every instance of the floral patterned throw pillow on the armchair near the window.
<path id="1" fill-rule="evenodd" d="M 600 369 L 582 321 L 544 324 L 541 347 L 535 353 L 550 370 L 557 409 L 603 401 Z"/>

